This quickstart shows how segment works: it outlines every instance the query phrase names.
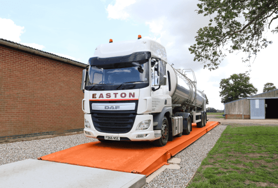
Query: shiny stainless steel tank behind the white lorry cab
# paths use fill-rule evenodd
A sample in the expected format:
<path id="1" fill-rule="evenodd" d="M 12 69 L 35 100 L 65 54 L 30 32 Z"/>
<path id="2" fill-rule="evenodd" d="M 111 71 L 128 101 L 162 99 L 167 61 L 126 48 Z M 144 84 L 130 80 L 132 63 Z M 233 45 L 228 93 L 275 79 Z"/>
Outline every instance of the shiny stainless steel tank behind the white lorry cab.
<path id="1" fill-rule="evenodd" d="M 172 104 L 182 104 L 193 106 L 195 98 L 195 87 L 192 81 L 167 64 L 167 70 L 170 73 Z M 203 107 L 206 96 L 200 90 L 197 90 L 197 106 Z"/>

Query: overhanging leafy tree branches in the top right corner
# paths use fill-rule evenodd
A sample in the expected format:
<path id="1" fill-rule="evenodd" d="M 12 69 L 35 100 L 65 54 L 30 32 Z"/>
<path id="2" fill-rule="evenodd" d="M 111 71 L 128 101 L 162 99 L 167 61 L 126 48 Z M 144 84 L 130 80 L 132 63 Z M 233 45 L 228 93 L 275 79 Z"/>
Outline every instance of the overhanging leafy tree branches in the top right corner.
<path id="1" fill-rule="evenodd" d="M 200 0 L 198 14 L 216 16 L 210 19 L 209 26 L 197 32 L 196 44 L 190 46 L 194 61 L 205 63 L 204 69 L 215 70 L 229 53 L 242 50 L 247 54 L 243 62 L 249 62 L 251 54 L 256 57 L 260 49 L 266 48 L 272 41 L 263 38 L 265 28 L 270 29 L 273 20 L 278 18 L 278 0 Z M 275 15 L 276 14 L 276 15 Z M 243 20 L 240 21 L 240 20 Z M 211 24 L 215 26 L 211 26 Z M 272 30 L 278 32 L 278 26 Z M 224 49 L 230 44 L 229 49 Z M 255 59 L 254 59 L 255 60 Z M 207 61 L 210 61 L 207 63 Z M 207 65 L 206 65 L 207 63 Z"/>

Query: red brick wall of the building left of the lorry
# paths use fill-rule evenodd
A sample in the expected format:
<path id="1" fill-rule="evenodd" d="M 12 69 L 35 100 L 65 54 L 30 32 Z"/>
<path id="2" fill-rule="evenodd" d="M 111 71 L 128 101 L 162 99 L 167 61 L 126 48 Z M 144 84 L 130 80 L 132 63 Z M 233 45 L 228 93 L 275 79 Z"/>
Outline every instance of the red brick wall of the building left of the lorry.
<path id="1" fill-rule="evenodd" d="M 0 141 L 81 131 L 82 69 L 0 45 Z"/>

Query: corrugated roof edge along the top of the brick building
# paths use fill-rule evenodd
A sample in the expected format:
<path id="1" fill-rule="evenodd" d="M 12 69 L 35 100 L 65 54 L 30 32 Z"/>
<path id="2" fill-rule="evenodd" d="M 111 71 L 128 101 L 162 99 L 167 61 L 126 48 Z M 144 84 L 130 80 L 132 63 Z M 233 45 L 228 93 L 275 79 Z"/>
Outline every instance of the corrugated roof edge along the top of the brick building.
<path id="1" fill-rule="evenodd" d="M 84 64 L 84 63 L 81 63 L 81 62 L 78 62 L 78 61 L 74 61 L 72 59 L 61 57 L 61 56 L 58 56 L 56 54 L 52 54 L 52 53 L 49 53 L 49 52 L 38 50 L 38 49 L 35 49 L 35 48 L 32 48 L 32 47 L 25 46 L 25 45 L 22 45 L 22 44 L 18 44 L 16 42 L 12 42 L 12 41 L 5 40 L 5 39 L 2 39 L 2 38 L 0 38 L 0 44 L 10 46 L 10 47 L 13 47 L 13 48 L 17 48 L 17 49 L 20 49 L 20 50 L 23 50 L 23 51 L 31 52 L 31 53 L 34 53 L 34 54 L 38 54 L 38 55 L 41 55 L 41 56 L 45 56 L 45 57 L 48 57 L 48 58 L 52 58 L 52 59 L 55 59 L 55 60 L 64 61 L 66 63 L 70 63 L 70 64 L 73 64 L 73 65 L 78 65 L 78 66 L 81 66 L 81 67 L 86 67 L 87 66 L 87 64 Z"/>

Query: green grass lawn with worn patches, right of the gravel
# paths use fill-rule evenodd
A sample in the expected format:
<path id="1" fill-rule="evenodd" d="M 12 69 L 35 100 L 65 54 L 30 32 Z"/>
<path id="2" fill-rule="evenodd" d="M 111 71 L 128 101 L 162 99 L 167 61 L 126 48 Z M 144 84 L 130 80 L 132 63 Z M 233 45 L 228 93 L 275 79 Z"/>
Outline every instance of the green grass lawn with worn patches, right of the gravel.
<path id="1" fill-rule="evenodd" d="M 278 126 L 229 125 L 188 188 L 278 188 Z"/>

